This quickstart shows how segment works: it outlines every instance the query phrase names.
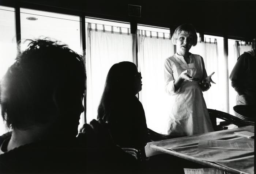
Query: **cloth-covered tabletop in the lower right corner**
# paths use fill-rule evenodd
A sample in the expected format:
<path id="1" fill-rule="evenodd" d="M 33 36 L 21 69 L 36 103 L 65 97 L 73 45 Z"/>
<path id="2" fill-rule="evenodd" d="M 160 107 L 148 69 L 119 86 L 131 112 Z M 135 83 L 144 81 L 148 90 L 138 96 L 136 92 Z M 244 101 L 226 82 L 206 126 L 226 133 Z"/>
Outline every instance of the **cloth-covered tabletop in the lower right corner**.
<path id="1" fill-rule="evenodd" d="M 232 173 L 254 174 L 254 139 L 234 134 L 239 131 L 254 132 L 254 126 L 150 142 L 147 143 L 145 151 L 147 156 L 167 153 Z M 253 150 L 199 148 L 200 140 L 247 142 L 253 144 Z"/>

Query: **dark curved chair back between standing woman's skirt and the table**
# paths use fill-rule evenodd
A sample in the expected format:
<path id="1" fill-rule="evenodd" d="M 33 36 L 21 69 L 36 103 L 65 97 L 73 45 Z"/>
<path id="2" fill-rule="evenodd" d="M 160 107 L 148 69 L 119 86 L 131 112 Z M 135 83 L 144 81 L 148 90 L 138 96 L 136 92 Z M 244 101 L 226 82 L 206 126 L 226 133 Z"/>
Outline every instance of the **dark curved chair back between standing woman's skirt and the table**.
<path id="1" fill-rule="evenodd" d="M 254 125 L 254 121 L 242 120 L 242 119 L 240 119 L 236 116 L 233 116 L 229 113 L 218 111 L 216 109 L 208 109 L 208 112 L 210 115 L 210 119 L 212 122 L 212 126 L 214 128 L 214 131 L 227 129 L 227 128 L 223 127 L 222 125 L 217 125 L 216 118 L 225 120 L 228 124 L 234 124 L 234 125 L 237 125 L 238 127 Z"/>

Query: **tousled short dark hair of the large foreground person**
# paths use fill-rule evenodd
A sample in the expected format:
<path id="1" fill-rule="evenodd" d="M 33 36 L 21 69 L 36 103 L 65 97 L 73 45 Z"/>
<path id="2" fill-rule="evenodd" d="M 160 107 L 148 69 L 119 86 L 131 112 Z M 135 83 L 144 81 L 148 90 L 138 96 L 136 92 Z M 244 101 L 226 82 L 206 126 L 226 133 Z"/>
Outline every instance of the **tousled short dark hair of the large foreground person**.
<path id="1" fill-rule="evenodd" d="M 45 124 L 56 112 L 53 93 L 85 90 L 81 55 L 52 39 L 29 40 L 0 82 L 1 115 L 9 128 Z"/>

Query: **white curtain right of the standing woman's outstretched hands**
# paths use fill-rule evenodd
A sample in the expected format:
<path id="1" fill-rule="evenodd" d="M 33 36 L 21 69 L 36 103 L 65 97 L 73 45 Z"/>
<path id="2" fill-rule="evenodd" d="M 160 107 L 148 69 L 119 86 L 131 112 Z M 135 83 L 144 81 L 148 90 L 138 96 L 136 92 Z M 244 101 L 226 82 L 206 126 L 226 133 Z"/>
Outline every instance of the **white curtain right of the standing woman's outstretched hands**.
<path id="1" fill-rule="evenodd" d="M 190 52 L 203 57 L 208 75 L 215 72 L 212 80 L 216 84 L 212 84 L 208 91 L 203 92 L 207 108 L 227 112 L 226 62 L 224 59 L 218 58 L 217 40 L 215 39 L 213 43 L 197 42 L 197 45 L 192 47 Z"/>

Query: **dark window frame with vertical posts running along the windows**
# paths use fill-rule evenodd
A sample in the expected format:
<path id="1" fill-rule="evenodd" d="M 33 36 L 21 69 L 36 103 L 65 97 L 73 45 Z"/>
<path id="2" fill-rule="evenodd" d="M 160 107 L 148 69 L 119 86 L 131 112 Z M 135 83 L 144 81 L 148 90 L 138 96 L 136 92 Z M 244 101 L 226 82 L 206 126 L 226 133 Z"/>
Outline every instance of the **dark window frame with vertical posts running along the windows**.
<path id="1" fill-rule="evenodd" d="M 138 25 L 142 26 L 152 26 L 152 27 L 159 27 L 159 28 L 165 28 L 163 26 L 158 26 L 158 25 L 167 25 L 167 24 L 153 24 L 148 22 L 148 24 L 145 24 L 142 21 L 138 21 L 134 18 L 129 18 L 126 20 L 116 20 L 120 19 L 116 16 L 108 16 L 108 15 L 97 15 L 97 14 L 91 14 L 87 13 L 85 11 L 80 11 L 80 10 L 75 10 L 75 9 L 66 9 L 66 8 L 61 8 L 61 7 L 53 7 L 49 5 L 43 5 L 43 4 L 35 4 L 35 3 L 29 3 L 29 2 L 15 2 L 15 1 L 1 1 L 0 2 L 1 6 L 6 6 L 6 7 L 12 7 L 15 8 L 15 34 L 16 34 L 16 40 L 17 40 L 17 52 L 20 50 L 20 42 L 19 40 L 21 39 L 20 36 L 20 8 L 27 8 L 27 9 L 34 9 L 34 10 L 40 10 L 40 11 L 46 11 L 46 12 L 55 12 L 55 13 L 61 13 L 61 14 L 66 14 L 66 15 L 76 15 L 80 17 L 80 45 L 81 49 L 83 50 L 83 57 L 85 56 L 85 50 L 86 50 L 86 36 L 85 36 L 85 18 L 92 18 L 92 19 L 101 19 L 101 20 L 108 20 L 112 22 L 121 22 L 121 23 L 129 23 L 130 28 L 131 28 L 131 34 L 135 34 L 137 30 Z M 102 18 L 103 16 L 103 18 Z M 100 17 L 100 18 L 99 18 Z M 105 19 L 109 18 L 109 19 Z M 168 26 L 170 28 L 170 35 L 173 35 L 173 32 L 177 26 L 176 25 L 171 25 Z M 242 37 L 237 37 L 237 36 L 229 36 L 229 35 L 220 35 L 220 34 L 214 34 L 214 33 L 208 33 L 204 31 L 200 31 L 199 35 L 201 37 L 201 41 L 204 41 L 204 34 L 207 35 L 212 35 L 212 36 L 221 36 L 223 37 L 223 42 L 224 42 L 224 56 L 225 60 L 228 61 L 228 39 L 236 39 L 236 40 L 244 40 L 245 42 L 252 42 L 252 40 L 245 39 Z M 252 36 L 253 38 L 253 36 Z M 176 47 L 174 46 L 174 52 L 176 51 Z M 138 66 L 138 43 L 136 46 L 136 62 Z M 228 63 L 228 62 L 227 62 Z M 228 65 L 228 64 L 227 64 Z M 229 74 L 229 69 L 226 67 L 227 74 Z M 226 77 L 227 79 L 227 100 L 229 100 L 229 77 Z M 139 96 L 138 96 L 139 97 Z M 227 106 L 229 106 L 229 101 L 227 101 Z M 86 92 L 84 93 L 84 118 L 83 118 L 83 123 L 86 123 Z M 228 107 L 228 112 L 229 107 Z"/>

